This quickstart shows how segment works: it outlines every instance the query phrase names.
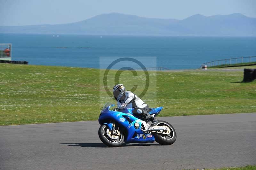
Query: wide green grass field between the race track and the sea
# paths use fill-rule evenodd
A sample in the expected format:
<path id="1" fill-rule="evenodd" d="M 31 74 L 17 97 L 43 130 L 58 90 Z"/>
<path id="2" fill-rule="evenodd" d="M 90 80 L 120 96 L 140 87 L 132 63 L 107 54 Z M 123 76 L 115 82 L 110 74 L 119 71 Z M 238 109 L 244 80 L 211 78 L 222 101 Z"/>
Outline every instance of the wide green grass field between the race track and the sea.
<path id="1" fill-rule="evenodd" d="M 0 125 L 97 120 L 100 107 L 114 103 L 99 83 L 103 72 L 0 64 Z M 110 90 L 115 73 L 109 72 Z M 138 74 L 125 71 L 120 82 L 127 89 L 143 85 L 143 72 Z M 256 81 L 238 82 L 243 72 L 150 72 L 149 77 L 143 100 L 151 107 L 164 106 L 160 116 L 256 112 Z M 141 91 L 139 86 L 136 94 Z"/>

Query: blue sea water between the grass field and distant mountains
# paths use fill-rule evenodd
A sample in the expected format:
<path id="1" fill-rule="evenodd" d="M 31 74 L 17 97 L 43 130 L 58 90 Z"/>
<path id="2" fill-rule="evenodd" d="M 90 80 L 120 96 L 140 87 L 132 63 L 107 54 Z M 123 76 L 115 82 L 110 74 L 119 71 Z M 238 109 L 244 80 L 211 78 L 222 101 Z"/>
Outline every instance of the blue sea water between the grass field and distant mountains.
<path id="1" fill-rule="evenodd" d="M 99 57 L 156 57 L 158 67 L 194 69 L 218 59 L 256 56 L 256 37 L 0 34 L 12 60 L 99 68 Z"/>

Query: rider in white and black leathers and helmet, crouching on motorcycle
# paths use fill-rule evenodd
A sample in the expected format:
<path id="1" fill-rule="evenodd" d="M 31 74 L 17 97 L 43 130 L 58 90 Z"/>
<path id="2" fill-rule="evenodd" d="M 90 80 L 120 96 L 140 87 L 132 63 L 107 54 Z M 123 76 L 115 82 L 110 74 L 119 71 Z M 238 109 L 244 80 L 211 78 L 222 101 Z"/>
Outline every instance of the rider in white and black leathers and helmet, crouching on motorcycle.
<path id="1" fill-rule="evenodd" d="M 137 113 L 142 114 L 144 118 L 149 118 L 152 122 L 152 125 L 157 122 L 156 118 L 148 113 L 148 104 L 144 103 L 136 94 L 125 90 L 123 84 L 117 84 L 114 86 L 113 95 L 117 100 L 117 106 L 119 109 L 135 108 Z"/>

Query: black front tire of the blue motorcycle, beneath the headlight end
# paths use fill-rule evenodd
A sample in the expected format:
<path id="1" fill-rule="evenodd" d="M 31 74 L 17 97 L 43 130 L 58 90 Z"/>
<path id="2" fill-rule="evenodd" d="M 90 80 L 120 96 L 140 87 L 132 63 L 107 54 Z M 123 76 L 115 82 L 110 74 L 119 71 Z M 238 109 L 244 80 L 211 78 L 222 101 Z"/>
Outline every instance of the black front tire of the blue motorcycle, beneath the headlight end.
<path id="1" fill-rule="evenodd" d="M 113 140 L 106 135 L 106 131 L 109 130 L 106 125 L 101 125 L 98 131 L 100 140 L 109 147 L 119 147 L 124 143 L 124 135 L 120 134 L 118 141 Z"/>

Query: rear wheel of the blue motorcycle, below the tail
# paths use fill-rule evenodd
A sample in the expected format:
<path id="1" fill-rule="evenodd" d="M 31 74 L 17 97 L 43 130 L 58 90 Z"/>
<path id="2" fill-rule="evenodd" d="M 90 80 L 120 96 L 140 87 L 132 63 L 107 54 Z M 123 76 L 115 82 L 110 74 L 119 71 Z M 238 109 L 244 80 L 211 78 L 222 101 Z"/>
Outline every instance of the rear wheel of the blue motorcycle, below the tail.
<path id="1" fill-rule="evenodd" d="M 170 130 L 162 130 L 160 131 L 161 133 L 154 133 L 153 135 L 157 143 L 161 145 L 171 145 L 176 141 L 176 132 L 170 123 L 159 120 L 156 126 L 167 126 Z"/>

